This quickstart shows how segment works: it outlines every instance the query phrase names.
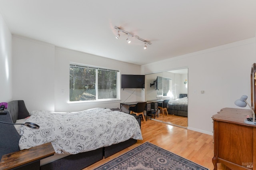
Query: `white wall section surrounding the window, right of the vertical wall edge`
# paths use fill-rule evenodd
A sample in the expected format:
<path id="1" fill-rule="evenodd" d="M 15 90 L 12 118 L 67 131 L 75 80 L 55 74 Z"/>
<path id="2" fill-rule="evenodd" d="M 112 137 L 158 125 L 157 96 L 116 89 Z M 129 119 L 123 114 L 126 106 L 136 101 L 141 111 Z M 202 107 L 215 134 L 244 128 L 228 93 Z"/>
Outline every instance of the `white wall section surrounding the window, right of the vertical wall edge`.
<path id="1" fill-rule="evenodd" d="M 120 108 L 120 102 L 141 101 L 141 89 L 120 89 L 121 101 L 68 103 L 70 62 L 120 70 L 121 74 L 140 74 L 140 66 L 88 53 L 56 47 L 55 51 L 55 111 L 81 111 L 94 107 Z M 64 90 L 64 94 L 61 94 Z"/>

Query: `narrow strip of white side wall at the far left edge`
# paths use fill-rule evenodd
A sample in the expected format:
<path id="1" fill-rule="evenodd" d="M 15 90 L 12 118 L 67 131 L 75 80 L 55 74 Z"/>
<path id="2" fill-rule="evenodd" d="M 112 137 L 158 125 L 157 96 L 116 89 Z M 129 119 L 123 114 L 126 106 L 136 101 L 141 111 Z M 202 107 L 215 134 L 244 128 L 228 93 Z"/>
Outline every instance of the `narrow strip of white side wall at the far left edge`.
<path id="1" fill-rule="evenodd" d="M 0 14 L 0 103 L 12 101 L 12 34 Z"/>

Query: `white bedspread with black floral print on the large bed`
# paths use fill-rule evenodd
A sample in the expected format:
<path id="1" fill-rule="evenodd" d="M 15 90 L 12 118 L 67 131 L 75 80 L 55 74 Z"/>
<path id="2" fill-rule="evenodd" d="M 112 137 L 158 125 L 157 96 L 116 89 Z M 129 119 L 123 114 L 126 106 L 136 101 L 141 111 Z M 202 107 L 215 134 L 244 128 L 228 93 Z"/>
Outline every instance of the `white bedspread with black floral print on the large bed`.
<path id="1" fill-rule="evenodd" d="M 58 154 L 77 154 L 130 138 L 142 140 L 138 121 L 119 111 L 95 108 L 71 113 L 32 111 L 30 115 L 27 122 L 36 123 L 40 128 L 22 125 L 20 150 L 52 142 Z"/>

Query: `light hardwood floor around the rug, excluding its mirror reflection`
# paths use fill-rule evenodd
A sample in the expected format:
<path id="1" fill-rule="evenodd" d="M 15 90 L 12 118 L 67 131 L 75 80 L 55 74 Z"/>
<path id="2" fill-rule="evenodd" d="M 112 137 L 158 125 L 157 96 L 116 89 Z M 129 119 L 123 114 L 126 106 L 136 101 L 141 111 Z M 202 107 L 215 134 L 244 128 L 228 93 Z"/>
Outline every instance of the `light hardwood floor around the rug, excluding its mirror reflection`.
<path id="1" fill-rule="evenodd" d="M 154 120 L 148 120 L 146 123 L 142 121 L 141 131 L 143 140 L 138 140 L 136 144 L 106 159 L 100 160 L 84 168 L 84 170 L 92 170 L 146 141 L 196 162 L 210 170 L 214 169 L 212 164 L 214 149 L 212 135 L 175 127 Z M 218 164 L 218 169 L 226 170 L 221 164 Z"/>

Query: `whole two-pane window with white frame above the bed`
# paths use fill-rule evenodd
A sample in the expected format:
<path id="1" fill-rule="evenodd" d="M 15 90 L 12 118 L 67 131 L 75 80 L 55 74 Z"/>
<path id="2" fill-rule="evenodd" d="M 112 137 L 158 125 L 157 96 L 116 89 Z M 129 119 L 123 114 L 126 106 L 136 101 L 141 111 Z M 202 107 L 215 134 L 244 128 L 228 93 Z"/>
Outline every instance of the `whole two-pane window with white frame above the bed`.
<path id="1" fill-rule="evenodd" d="M 70 64 L 70 101 L 119 98 L 119 71 L 90 65 Z"/>

